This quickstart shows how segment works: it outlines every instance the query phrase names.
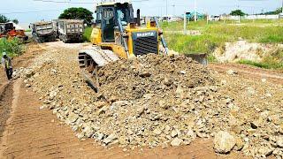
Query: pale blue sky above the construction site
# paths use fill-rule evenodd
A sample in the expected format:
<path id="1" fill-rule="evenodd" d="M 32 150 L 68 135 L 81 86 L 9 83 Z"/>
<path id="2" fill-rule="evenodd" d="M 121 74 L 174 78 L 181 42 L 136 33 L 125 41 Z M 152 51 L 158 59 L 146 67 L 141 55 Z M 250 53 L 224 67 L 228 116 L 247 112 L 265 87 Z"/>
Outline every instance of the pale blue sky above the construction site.
<path id="1" fill-rule="evenodd" d="M 19 24 L 27 27 L 38 20 L 57 19 L 58 15 L 69 7 L 84 7 L 95 11 L 95 5 L 101 0 L 0 0 L 0 14 L 9 19 L 19 19 Z M 43 0 L 46 1 L 46 0 Z M 69 3 L 54 3 L 71 2 Z M 141 9 L 142 16 L 181 15 L 185 11 L 194 11 L 217 15 L 230 13 L 235 9 L 252 14 L 274 11 L 282 6 L 283 0 L 133 0 L 134 10 Z M 166 3 L 167 2 L 167 3 Z M 76 4 L 86 3 L 86 4 Z M 89 4 L 88 4 L 89 3 Z M 166 7 L 167 6 L 167 7 Z M 167 8 L 167 11 L 166 11 Z"/>

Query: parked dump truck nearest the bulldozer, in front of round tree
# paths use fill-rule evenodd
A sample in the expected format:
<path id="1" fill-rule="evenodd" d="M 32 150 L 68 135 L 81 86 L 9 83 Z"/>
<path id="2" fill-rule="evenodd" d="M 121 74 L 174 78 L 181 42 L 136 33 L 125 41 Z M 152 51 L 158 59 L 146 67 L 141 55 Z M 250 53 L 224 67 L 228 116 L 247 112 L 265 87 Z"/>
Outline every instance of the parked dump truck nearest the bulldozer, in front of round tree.
<path id="1" fill-rule="evenodd" d="M 58 36 L 63 42 L 82 42 L 83 20 L 58 19 Z"/>

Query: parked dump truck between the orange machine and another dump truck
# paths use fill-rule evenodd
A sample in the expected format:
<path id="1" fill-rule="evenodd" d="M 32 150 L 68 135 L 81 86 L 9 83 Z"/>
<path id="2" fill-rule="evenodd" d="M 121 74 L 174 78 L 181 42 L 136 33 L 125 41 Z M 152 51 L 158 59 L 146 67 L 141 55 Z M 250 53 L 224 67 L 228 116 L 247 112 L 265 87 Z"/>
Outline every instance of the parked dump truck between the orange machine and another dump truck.
<path id="1" fill-rule="evenodd" d="M 34 41 L 38 43 L 55 42 L 56 30 L 52 21 L 41 21 L 30 25 Z"/>

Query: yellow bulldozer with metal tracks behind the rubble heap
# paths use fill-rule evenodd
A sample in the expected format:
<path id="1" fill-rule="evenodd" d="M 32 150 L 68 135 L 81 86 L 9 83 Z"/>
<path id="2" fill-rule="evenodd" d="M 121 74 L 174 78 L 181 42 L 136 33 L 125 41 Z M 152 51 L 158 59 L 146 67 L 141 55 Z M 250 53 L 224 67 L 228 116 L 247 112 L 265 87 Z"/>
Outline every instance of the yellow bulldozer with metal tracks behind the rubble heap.
<path id="1" fill-rule="evenodd" d="M 167 46 L 158 21 L 141 26 L 140 10 L 134 18 L 130 3 L 102 3 L 96 6 L 96 23 L 90 37 L 92 49 L 80 50 L 79 63 L 84 78 L 99 91 L 98 69 L 119 58 L 167 54 Z M 162 43 L 163 49 L 159 48 Z M 163 50 L 163 51 L 160 51 Z"/>

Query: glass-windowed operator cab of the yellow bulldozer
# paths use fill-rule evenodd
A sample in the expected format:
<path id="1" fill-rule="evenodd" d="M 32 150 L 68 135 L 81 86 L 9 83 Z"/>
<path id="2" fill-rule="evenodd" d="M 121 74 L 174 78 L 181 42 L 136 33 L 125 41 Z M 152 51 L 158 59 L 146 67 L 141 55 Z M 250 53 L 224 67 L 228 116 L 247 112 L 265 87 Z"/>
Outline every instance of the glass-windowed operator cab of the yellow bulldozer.
<path id="1" fill-rule="evenodd" d="M 102 41 L 115 42 L 115 28 L 118 28 L 121 19 L 123 26 L 126 26 L 134 19 L 132 4 L 103 4 L 96 9 L 96 26 L 101 27 Z"/>

